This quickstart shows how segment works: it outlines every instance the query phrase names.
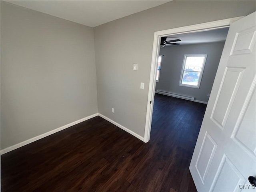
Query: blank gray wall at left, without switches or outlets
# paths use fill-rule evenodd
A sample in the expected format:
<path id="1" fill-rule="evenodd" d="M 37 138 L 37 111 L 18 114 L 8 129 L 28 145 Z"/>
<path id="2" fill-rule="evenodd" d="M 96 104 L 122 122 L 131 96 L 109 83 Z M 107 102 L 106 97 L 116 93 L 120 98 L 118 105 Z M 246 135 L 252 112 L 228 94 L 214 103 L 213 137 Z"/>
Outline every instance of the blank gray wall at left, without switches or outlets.
<path id="1" fill-rule="evenodd" d="M 1 1 L 1 149 L 98 112 L 93 28 Z"/>

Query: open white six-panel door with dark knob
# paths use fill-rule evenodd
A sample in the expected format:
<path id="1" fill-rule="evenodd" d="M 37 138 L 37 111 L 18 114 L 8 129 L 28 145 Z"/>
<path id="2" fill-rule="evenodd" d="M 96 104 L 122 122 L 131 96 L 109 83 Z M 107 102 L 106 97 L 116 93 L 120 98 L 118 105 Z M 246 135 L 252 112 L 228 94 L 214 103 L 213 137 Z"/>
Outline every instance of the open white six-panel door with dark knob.
<path id="1" fill-rule="evenodd" d="M 232 23 L 190 163 L 198 191 L 256 191 L 256 12 Z"/>

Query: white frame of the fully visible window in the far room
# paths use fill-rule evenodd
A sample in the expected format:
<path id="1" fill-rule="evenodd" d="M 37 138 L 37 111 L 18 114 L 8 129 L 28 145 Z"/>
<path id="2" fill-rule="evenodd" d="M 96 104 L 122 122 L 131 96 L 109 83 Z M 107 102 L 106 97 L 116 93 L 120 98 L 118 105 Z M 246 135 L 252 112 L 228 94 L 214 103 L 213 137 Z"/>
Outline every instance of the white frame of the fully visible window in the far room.
<path id="1" fill-rule="evenodd" d="M 200 76 L 199 76 L 199 78 L 198 78 L 198 85 L 197 85 L 197 86 L 182 84 L 182 77 L 183 77 L 183 73 L 184 73 L 184 71 L 185 71 L 185 66 L 186 66 L 186 58 L 187 58 L 188 56 L 193 56 L 193 57 L 196 57 L 196 56 L 198 56 L 198 57 L 204 56 L 202 71 L 194 71 L 194 72 L 200 72 Z M 207 54 L 185 54 L 185 55 L 184 55 L 183 65 L 182 65 L 181 74 L 180 74 L 180 83 L 179 83 L 179 86 L 185 86 L 185 87 L 191 87 L 191 88 L 198 88 L 198 89 L 200 88 L 202 76 L 203 76 L 203 73 L 204 73 L 204 66 L 205 66 L 205 63 L 206 63 L 206 58 L 207 58 Z"/>

